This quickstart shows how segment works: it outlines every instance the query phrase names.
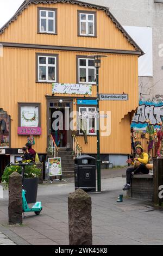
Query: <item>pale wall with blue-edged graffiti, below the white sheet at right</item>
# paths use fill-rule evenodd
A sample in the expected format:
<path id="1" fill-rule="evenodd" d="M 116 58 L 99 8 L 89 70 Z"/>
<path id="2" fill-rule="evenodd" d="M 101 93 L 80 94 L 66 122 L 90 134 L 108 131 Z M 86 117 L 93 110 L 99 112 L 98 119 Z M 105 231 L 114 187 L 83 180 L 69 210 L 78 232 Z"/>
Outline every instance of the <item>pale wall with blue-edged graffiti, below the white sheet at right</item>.
<path id="1" fill-rule="evenodd" d="M 155 128 L 163 121 L 162 77 L 156 82 L 153 78 L 139 77 L 139 107 L 133 117 L 131 126 L 137 131 L 146 131 L 147 120 Z"/>

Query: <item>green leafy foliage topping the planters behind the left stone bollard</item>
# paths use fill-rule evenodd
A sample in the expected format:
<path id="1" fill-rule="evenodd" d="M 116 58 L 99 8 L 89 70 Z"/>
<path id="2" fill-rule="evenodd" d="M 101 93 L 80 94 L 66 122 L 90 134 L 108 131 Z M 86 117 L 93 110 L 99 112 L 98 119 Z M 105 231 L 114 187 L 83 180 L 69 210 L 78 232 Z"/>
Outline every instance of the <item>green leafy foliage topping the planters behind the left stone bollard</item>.
<path id="1" fill-rule="evenodd" d="M 2 182 L 4 183 L 4 188 L 8 188 L 9 185 L 9 176 L 17 172 L 19 174 L 22 173 L 21 166 L 9 166 L 4 169 L 2 175 Z M 41 169 L 37 168 L 36 165 L 26 166 L 24 172 L 24 178 L 37 178 L 41 174 Z"/>

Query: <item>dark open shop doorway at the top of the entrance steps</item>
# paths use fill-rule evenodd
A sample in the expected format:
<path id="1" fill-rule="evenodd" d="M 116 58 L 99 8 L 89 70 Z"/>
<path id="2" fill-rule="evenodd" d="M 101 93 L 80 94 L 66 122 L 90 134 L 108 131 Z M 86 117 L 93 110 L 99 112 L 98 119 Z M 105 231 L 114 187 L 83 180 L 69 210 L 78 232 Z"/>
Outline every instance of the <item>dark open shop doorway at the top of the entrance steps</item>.
<path id="1" fill-rule="evenodd" d="M 51 108 L 51 135 L 58 148 L 67 148 L 65 108 Z"/>

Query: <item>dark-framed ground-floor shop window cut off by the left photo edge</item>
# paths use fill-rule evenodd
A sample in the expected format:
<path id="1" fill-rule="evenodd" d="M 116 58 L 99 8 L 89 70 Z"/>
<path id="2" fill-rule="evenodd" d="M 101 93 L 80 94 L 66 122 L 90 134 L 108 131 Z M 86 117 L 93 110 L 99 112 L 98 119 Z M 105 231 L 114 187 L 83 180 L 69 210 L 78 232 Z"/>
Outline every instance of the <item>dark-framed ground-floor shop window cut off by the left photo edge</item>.
<path id="1" fill-rule="evenodd" d="M 7 113 L 0 113 L 0 148 L 9 147 L 10 117 Z"/>

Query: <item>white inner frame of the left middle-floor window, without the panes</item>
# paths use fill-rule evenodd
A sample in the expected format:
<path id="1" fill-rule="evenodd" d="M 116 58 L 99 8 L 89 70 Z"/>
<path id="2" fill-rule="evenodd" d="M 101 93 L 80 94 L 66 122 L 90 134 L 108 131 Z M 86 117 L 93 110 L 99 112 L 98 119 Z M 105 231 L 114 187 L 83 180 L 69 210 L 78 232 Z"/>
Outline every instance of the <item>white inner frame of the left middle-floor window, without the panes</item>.
<path id="1" fill-rule="evenodd" d="M 42 57 L 42 58 L 46 58 L 46 64 L 40 64 L 39 62 L 39 58 Z M 56 83 L 57 82 L 57 57 L 55 56 L 45 56 L 45 55 L 38 55 L 37 56 L 37 63 L 38 63 L 38 81 L 39 82 L 49 82 L 49 83 Z M 54 58 L 55 59 L 55 64 L 48 64 L 48 59 L 49 58 Z M 40 66 L 46 66 L 46 80 L 40 80 Z M 49 72 L 48 72 L 48 68 L 52 66 L 55 68 L 55 80 L 49 80 L 48 79 L 48 75 L 49 75 Z"/>

